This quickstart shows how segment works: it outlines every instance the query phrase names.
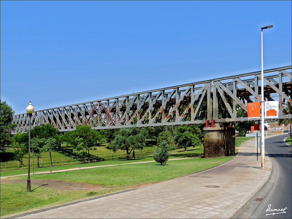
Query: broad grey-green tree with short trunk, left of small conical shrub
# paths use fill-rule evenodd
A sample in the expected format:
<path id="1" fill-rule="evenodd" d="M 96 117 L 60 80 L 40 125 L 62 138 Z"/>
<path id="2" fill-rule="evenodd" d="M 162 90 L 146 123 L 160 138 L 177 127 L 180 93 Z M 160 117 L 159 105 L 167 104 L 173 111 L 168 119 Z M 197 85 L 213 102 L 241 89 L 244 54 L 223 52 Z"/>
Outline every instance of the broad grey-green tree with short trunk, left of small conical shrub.
<path id="1" fill-rule="evenodd" d="M 114 152 L 124 150 L 127 153 L 127 160 L 131 159 L 131 152 L 135 149 L 142 150 L 145 147 L 145 139 L 147 131 L 144 128 L 122 128 L 115 136 L 110 145 L 110 149 Z"/>

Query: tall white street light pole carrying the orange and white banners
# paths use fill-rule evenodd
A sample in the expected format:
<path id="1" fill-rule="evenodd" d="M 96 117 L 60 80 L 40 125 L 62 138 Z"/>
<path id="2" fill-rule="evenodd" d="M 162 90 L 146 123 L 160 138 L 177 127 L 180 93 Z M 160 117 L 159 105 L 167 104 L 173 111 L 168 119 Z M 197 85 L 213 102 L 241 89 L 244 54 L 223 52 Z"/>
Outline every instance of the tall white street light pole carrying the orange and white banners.
<path id="1" fill-rule="evenodd" d="M 261 75 L 261 121 L 260 121 L 260 149 L 261 149 L 261 169 L 265 169 L 265 125 L 264 125 L 264 118 L 265 118 L 265 103 L 264 103 L 264 65 L 263 65 L 263 29 L 268 29 L 273 27 L 273 25 L 265 26 L 261 28 L 262 32 L 262 75 Z"/>

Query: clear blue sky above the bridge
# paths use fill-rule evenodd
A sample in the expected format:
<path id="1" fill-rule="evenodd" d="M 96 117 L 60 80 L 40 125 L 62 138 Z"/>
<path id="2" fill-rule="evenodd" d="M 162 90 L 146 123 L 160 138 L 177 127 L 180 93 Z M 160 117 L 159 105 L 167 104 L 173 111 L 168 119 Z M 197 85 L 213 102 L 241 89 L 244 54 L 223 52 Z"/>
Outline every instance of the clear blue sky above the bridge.
<path id="1" fill-rule="evenodd" d="M 292 1 L 1 1 L 15 114 L 291 65 Z"/>

